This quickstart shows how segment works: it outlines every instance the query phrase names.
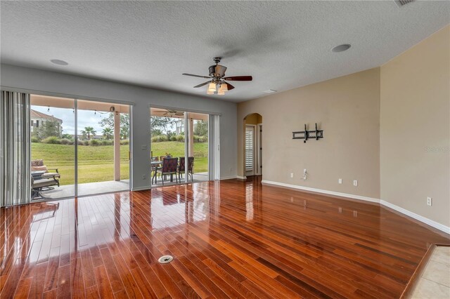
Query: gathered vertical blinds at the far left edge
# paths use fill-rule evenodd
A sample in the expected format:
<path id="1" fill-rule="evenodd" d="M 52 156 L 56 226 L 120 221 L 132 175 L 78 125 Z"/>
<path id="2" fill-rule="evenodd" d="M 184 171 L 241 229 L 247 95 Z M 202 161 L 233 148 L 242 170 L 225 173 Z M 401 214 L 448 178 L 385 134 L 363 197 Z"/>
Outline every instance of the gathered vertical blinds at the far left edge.
<path id="1" fill-rule="evenodd" d="M 30 202 L 30 139 L 30 95 L 1 91 L 0 206 Z"/>

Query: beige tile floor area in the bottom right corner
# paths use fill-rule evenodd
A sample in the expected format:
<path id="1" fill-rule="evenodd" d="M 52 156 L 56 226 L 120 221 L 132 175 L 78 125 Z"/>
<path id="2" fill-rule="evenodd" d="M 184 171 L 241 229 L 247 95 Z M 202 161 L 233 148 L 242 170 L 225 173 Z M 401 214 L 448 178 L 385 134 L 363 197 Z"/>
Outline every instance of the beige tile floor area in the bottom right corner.
<path id="1" fill-rule="evenodd" d="M 437 246 L 411 298 L 450 298 L 450 247 Z"/>

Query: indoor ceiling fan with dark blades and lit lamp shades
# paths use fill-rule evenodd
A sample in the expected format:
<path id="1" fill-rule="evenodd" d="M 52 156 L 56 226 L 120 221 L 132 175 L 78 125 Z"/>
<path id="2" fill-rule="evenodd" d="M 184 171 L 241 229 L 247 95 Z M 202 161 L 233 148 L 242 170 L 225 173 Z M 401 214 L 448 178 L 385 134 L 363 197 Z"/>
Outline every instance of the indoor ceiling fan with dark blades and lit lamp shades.
<path id="1" fill-rule="evenodd" d="M 224 67 L 223 65 L 219 65 L 221 57 L 214 57 L 214 58 L 212 58 L 212 60 L 214 60 L 214 62 L 216 62 L 216 65 L 210 66 L 210 76 L 209 77 L 184 73 L 184 76 L 210 79 L 210 81 L 206 81 L 205 83 L 194 86 L 194 88 L 199 88 L 199 87 L 205 86 L 206 84 L 209 84 L 208 88 L 207 88 L 208 95 L 213 95 L 216 91 L 217 91 L 218 95 L 224 95 L 227 91 L 231 91 L 231 89 L 233 89 L 234 86 L 232 86 L 231 84 L 229 84 L 226 81 L 252 81 L 252 79 L 253 79 L 252 76 L 225 77 L 226 67 Z"/>

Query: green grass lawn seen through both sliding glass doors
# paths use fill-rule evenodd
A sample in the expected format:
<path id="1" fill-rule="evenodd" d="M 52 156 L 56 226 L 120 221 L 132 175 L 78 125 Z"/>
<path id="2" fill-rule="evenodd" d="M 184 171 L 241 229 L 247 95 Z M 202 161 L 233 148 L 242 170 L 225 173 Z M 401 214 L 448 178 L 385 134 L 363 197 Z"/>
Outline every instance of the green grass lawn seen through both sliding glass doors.
<path id="1" fill-rule="evenodd" d="M 194 172 L 207 171 L 207 142 L 194 143 Z M 113 145 L 78 146 L 78 181 L 103 182 L 114 180 L 114 148 Z M 174 157 L 184 156 L 184 142 L 167 141 L 153 142 L 153 156 L 163 156 L 165 153 Z M 120 145 L 120 179 L 129 179 L 129 145 Z M 32 160 L 44 159 L 48 168 L 58 168 L 61 174 L 61 185 L 72 185 L 75 182 L 75 146 L 32 143 Z M 147 163 L 147 161 L 145 161 Z"/>

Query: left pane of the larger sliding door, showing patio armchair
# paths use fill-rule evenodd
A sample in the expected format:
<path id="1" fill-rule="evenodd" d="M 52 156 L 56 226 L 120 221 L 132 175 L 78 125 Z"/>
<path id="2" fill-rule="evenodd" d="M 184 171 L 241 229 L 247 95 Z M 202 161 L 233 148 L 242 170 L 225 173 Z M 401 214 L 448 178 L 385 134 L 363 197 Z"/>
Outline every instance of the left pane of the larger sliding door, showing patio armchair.
<path id="1" fill-rule="evenodd" d="M 31 199 L 75 197 L 75 100 L 30 95 Z"/>

